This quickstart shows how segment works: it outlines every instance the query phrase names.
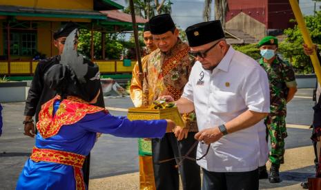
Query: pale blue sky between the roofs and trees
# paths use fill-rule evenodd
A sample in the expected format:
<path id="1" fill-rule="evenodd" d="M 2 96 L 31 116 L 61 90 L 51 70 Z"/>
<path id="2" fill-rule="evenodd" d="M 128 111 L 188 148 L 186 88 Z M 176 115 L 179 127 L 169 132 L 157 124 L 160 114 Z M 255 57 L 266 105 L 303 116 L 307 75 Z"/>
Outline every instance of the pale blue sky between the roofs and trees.
<path id="1" fill-rule="evenodd" d="M 116 3 L 126 6 L 124 0 L 114 0 Z M 204 8 L 204 0 L 171 0 L 172 17 L 175 23 L 181 27 L 186 28 L 188 25 L 200 23 L 203 21 L 202 12 Z M 237 1 L 237 0 L 234 0 Z M 213 5 L 212 5 L 213 6 Z M 316 3 L 317 10 L 320 10 L 321 2 Z M 313 14 L 314 1 L 300 0 L 300 8 L 303 14 Z M 214 15 L 212 11 L 212 15 Z M 213 19 L 214 16 L 212 16 Z"/>

